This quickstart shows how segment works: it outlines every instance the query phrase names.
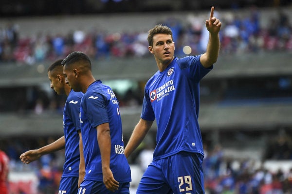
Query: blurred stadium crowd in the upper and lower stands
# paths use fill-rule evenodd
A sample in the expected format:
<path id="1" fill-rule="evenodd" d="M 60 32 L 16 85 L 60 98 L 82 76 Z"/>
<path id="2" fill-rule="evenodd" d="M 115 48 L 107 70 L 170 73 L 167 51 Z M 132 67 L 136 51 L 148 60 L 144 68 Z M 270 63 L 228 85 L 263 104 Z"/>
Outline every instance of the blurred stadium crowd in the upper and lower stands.
<path id="1" fill-rule="evenodd" d="M 276 18 L 271 18 L 270 24 L 260 27 L 260 15 L 256 9 L 248 17 L 222 18 L 221 54 L 241 54 L 246 52 L 287 50 L 292 51 L 292 25 L 289 17 L 279 12 Z M 194 20 L 193 20 L 194 21 Z M 203 26 L 189 21 L 182 25 L 176 18 L 161 22 L 168 25 L 174 32 L 176 54 L 185 55 L 183 46 L 188 45 L 192 53 L 199 54 L 204 48 Z M 46 60 L 67 56 L 73 50 L 87 53 L 94 59 L 110 59 L 111 57 L 146 57 L 146 32 L 108 33 L 102 31 L 84 32 L 76 30 L 66 35 L 50 35 L 40 32 L 31 37 L 19 38 L 21 29 L 17 24 L 9 24 L 0 30 L 0 64 L 10 62 L 34 65 Z M 129 91 L 131 93 L 132 91 Z M 133 96 L 129 94 L 129 96 Z M 135 95 L 137 96 L 137 95 Z M 125 97 L 127 99 L 127 97 Z M 56 104 L 63 98 L 56 99 Z M 133 99 L 134 104 L 141 104 L 139 97 Z M 36 113 L 42 111 L 42 103 L 35 106 Z M 122 104 L 129 103 L 120 98 Z M 53 106 L 54 102 L 49 103 Z M 123 105 L 122 105 L 123 106 Z M 61 110 L 61 108 L 59 108 Z M 61 112 L 61 111 L 60 111 Z M 292 137 L 289 137 L 291 140 Z M 286 139 L 287 140 L 287 139 Z M 62 174 L 64 152 L 43 156 L 41 160 L 25 165 L 19 161 L 23 151 L 44 146 L 55 141 L 53 137 L 38 139 L 5 139 L 3 150 L 10 158 L 10 168 L 13 172 L 34 171 L 38 177 L 38 194 L 52 194 L 58 187 Z M 279 154 L 280 148 L 284 153 L 292 153 L 291 141 L 274 139 L 274 144 L 267 150 L 266 158 L 274 160 L 292 160 L 292 155 Z M 285 145 L 285 146 L 283 146 Z M 204 173 L 206 194 L 291 194 L 292 169 L 284 172 L 270 172 L 262 165 L 255 165 L 250 158 L 235 159 L 224 157 L 220 146 L 205 150 Z M 137 162 L 137 161 L 133 161 Z M 13 194 L 28 194 L 25 191 L 14 191 Z"/>

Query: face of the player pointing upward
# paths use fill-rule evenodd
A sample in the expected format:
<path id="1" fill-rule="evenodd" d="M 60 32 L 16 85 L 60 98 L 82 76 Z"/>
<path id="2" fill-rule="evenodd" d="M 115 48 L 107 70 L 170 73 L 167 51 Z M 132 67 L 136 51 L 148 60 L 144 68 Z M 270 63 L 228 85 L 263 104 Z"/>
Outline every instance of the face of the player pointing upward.
<path id="1" fill-rule="evenodd" d="M 153 36 L 153 46 L 149 46 L 149 51 L 154 54 L 157 61 L 163 64 L 169 63 L 174 56 L 174 42 L 171 35 L 155 34 Z"/>

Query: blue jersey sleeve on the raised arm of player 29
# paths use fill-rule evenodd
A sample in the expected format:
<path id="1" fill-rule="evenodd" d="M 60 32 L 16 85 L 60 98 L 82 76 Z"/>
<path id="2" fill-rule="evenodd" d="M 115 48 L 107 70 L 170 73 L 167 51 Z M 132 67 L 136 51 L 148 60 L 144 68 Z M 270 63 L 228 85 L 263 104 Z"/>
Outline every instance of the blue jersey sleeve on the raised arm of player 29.
<path id="1" fill-rule="evenodd" d="M 207 73 L 213 69 L 213 65 L 205 68 L 200 62 L 201 55 L 187 56 L 178 60 L 178 65 L 186 77 L 200 81 Z"/>

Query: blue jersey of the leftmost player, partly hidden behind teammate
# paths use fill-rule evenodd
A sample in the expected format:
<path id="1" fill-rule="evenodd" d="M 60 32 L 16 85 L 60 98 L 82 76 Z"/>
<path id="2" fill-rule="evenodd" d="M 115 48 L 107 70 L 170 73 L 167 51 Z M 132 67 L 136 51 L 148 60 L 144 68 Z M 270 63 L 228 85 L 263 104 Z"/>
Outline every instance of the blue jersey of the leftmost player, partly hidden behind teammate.
<path id="1" fill-rule="evenodd" d="M 65 163 L 62 177 L 79 176 L 79 107 L 82 92 L 70 91 L 63 112 L 63 127 L 65 136 Z"/>

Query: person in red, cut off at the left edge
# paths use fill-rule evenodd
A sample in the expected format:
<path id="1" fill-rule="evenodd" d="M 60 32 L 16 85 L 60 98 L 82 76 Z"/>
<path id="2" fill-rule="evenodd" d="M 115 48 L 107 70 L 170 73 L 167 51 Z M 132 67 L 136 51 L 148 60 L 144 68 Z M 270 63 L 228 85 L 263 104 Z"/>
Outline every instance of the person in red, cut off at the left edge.
<path id="1" fill-rule="evenodd" d="M 9 158 L 0 150 L 0 194 L 8 194 Z"/>

